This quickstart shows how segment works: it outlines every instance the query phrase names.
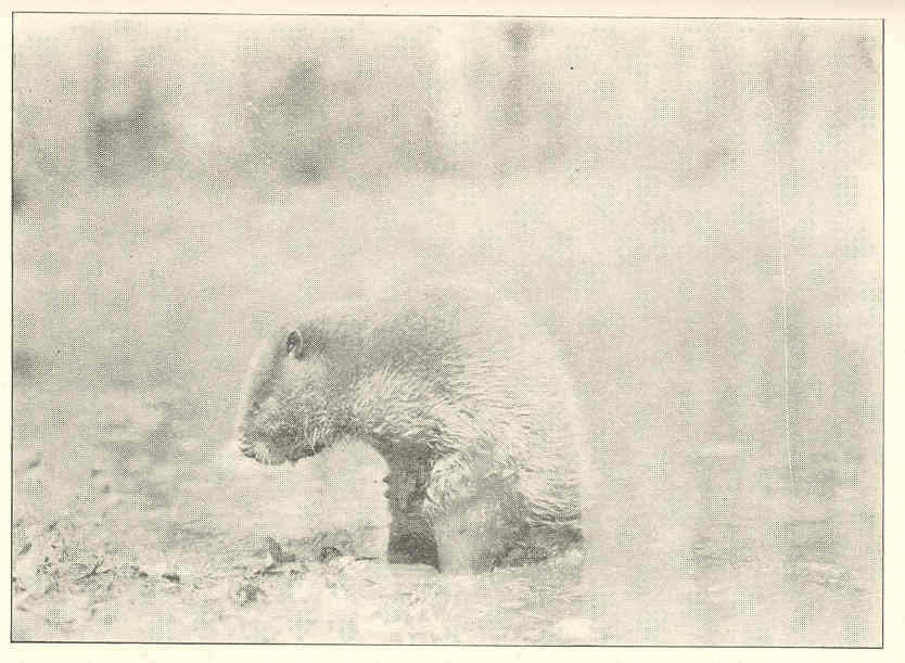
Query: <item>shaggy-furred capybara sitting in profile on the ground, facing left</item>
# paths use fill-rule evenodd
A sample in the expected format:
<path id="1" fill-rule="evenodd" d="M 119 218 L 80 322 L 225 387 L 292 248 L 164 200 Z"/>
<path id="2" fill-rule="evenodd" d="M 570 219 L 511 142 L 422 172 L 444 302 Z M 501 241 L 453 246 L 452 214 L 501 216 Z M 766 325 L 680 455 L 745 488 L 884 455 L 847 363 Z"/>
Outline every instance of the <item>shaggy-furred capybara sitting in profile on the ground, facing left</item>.
<path id="1" fill-rule="evenodd" d="M 473 573 L 581 540 L 572 382 L 550 339 L 486 288 L 424 285 L 282 326 L 237 426 L 266 464 L 372 445 L 390 470 L 390 562 Z"/>

